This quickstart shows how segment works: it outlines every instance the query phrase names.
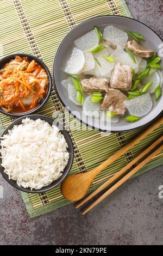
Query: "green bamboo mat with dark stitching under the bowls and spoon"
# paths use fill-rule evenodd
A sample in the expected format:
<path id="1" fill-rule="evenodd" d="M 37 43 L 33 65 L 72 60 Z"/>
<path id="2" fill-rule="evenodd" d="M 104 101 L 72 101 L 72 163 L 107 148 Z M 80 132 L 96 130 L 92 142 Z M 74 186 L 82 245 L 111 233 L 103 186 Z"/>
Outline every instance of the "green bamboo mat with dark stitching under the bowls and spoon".
<path id="1" fill-rule="evenodd" d="M 0 44 L 3 46 L 3 55 L 14 52 L 34 54 L 46 63 L 49 70 L 60 41 L 78 23 L 98 15 L 131 17 L 123 0 L 0 0 L 0 5 Z M 55 111 L 60 111 L 62 108 L 53 89 L 51 98 L 39 113 L 54 117 Z M 73 120 L 71 116 L 70 119 Z M 3 114 L 0 115 L 1 132 L 12 120 Z M 78 121 L 77 125 L 81 126 Z M 102 182 L 133 160 L 155 141 L 162 131 L 163 126 L 100 173 L 93 181 L 89 192 L 95 190 Z M 140 130 L 109 135 L 90 128 L 85 131 L 70 130 L 74 143 L 74 162 L 70 174 L 86 172 L 97 166 L 139 132 Z M 163 153 L 160 153 L 137 175 L 162 163 Z M 43 194 L 24 192 L 21 194 L 31 218 L 70 203 L 62 196 L 60 186 Z"/>

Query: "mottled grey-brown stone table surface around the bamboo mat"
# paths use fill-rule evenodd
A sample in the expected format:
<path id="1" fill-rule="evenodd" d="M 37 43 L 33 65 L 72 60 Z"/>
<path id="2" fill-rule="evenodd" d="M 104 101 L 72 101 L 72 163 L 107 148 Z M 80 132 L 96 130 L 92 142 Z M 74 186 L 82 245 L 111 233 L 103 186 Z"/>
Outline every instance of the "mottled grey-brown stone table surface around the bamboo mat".
<path id="1" fill-rule="evenodd" d="M 162 0 L 127 0 L 133 17 L 163 38 Z M 30 220 L 20 192 L 0 176 L 1 245 L 161 245 L 162 167 L 130 179 L 84 217 L 73 205 Z"/>

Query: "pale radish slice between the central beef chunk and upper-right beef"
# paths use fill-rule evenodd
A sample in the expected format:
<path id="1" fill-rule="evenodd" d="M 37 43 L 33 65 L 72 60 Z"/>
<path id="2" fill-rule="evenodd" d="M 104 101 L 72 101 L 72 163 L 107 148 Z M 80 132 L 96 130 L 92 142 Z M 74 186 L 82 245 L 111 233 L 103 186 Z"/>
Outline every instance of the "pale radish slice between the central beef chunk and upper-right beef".
<path id="1" fill-rule="evenodd" d="M 135 73 L 138 72 L 138 63 L 134 63 L 129 54 L 125 52 L 122 47 L 117 46 L 116 50 L 112 52 L 110 56 L 115 58 L 117 63 L 128 65 L 135 70 Z"/>

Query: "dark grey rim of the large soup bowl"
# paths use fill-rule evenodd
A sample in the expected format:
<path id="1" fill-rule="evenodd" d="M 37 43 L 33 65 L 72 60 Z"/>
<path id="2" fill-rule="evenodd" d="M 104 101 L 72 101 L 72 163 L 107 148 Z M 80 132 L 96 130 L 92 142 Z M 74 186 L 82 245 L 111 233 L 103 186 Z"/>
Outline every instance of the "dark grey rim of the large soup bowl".
<path id="1" fill-rule="evenodd" d="M 61 42 L 60 42 L 60 44 L 59 44 L 59 46 L 58 46 L 58 48 L 57 48 L 57 51 L 55 52 L 54 59 L 53 59 L 53 65 L 52 65 L 52 79 L 53 79 L 55 91 L 57 92 L 57 95 L 58 95 L 58 97 L 59 97 L 59 99 L 60 99 L 62 105 L 67 109 L 68 113 L 70 113 L 70 114 L 72 115 L 72 117 L 74 117 L 74 118 L 76 118 L 78 121 L 80 121 L 80 123 L 83 123 L 83 124 L 85 124 L 86 126 L 89 126 L 89 127 L 91 127 L 92 129 L 94 129 L 94 130 L 97 130 L 96 127 L 94 127 L 94 126 L 92 126 L 92 125 L 89 125 L 89 124 L 85 123 L 83 120 L 81 120 L 80 118 L 76 117 L 76 115 L 74 115 L 74 114 L 70 111 L 70 109 L 67 108 L 67 106 L 65 105 L 65 103 L 62 101 L 62 99 L 61 99 L 61 97 L 60 97 L 60 95 L 59 95 L 59 93 L 58 93 L 57 86 L 56 86 L 56 84 L 55 84 L 54 65 L 55 65 L 56 53 L 58 52 L 59 48 L 60 48 L 61 45 L 62 45 L 62 42 L 65 40 L 65 38 L 66 38 L 66 36 L 67 36 L 68 34 L 72 33 L 72 31 L 73 31 L 74 29 L 76 29 L 78 26 L 82 25 L 83 23 L 86 23 L 86 22 L 89 21 L 89 20 L 96 19 L 97 17 L 109 17 L 109 16 L 110 16 L 110 17 L 121 17 L 122 19 L 134 20 L 134 21 L 136 21 L 136 22 L 138 22 L 138 23 L 141 23 L 142 25 L 144 25 L 144 26 L 146 26 L 147 28 L 151 29 L 151 31 L 153 31 L 153 32 L 160 38 L 160 36 L 159 36 L 152 28 L 148 27 L 147 25 L 145 25 L 145 24 L 144 24 L 143 22 L 141 22 L 141 21 L 135 20 L 135 19 L 130 18 L 130 17 L 120 16 L 120 15 L 103 15 L 103 16 L 99 15 L 99 16 L 92 17 L 92 18 L 90 18 L 90 19 L 87 19 L 86 21 L 83 21 L 83 22 L 79 23 L 77 26 L 75 26 L 74 28 L 72 28 L 71 31 L 68 32 L 68 33 L 64 36 L 64 38 L 61 40 Z M 161 38 L 160 38 L 160 40 L 161 40 L 162 43 L 163 43 L 163 40 L 162 40 Z M 149 126 L 149 125 L 152 124 L 156 119 L 158 119 L 158 118 L 160 117 L 160 115 L 162 115 L 162 113 L 163 113 L 163 109 L 162 109 L 162 111 L 161 111 L 154 119 L 152 119 L 152 120 L 149 121 L 148 123 L 146 123 L 146 124 L 144 124 L 144 125 L 140 125 L 140 126 L 138 126 L 138 127 L 136 127 L 136 128 L 132 128 L 132 129 L 128 129 L 128 130 L 121 130 L 121 131 L 114 131 L 114 130 L 111 130 L 110 132 L 112 132 L 112 133 L 129 132 L 129 131 L 137 130 L 137 129 L 141 128 L 141 127 Z M 98 129 L 98 130 L 99 130 L 99 131 L 104 131 L 104 132 L 106 131 L 106 130 L 102 130 L 102 129 Z"/>

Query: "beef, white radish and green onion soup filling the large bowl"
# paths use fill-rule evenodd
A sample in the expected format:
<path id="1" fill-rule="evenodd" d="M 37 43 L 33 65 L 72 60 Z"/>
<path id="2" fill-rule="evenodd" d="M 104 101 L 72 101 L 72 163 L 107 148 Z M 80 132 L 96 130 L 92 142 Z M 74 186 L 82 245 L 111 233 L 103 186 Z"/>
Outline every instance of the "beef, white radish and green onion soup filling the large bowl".
<path id="1" fill-rule="evenodd" d="M 162 67 L 158 53 L 142 46 L 144 40 L 111 25 L 74 40 L 61 68 L 67 76 L 61 86 L 73 105 L 100 122 L 145 117 L 160 100 Z"/>

